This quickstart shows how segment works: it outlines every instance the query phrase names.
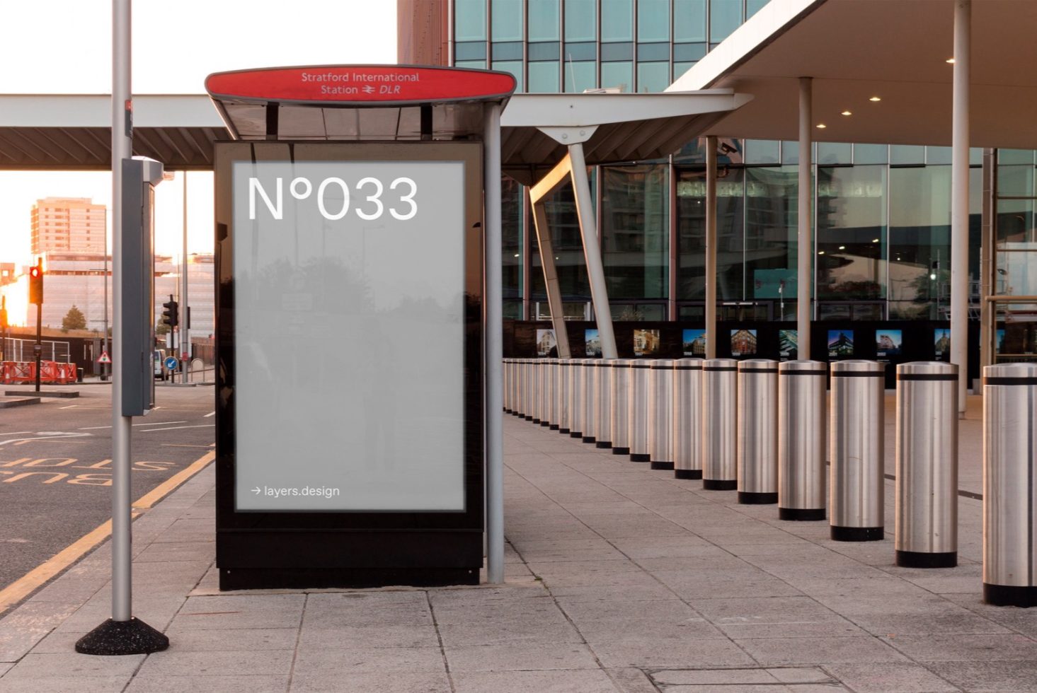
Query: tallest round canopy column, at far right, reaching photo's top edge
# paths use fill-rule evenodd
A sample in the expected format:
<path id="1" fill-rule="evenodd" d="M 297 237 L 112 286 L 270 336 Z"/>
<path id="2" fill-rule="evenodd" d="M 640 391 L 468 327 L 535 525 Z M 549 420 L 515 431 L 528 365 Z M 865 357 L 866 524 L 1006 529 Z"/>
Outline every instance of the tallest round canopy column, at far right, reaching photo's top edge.
<path id="1" fill-rule="evenodd" d="M 969 381 L 969 48 L 972 0 L 954 3 L 951 111 L 951 363 L 958 366 L 958 415 Z"/>

